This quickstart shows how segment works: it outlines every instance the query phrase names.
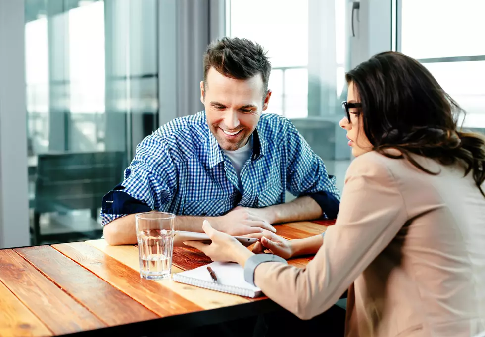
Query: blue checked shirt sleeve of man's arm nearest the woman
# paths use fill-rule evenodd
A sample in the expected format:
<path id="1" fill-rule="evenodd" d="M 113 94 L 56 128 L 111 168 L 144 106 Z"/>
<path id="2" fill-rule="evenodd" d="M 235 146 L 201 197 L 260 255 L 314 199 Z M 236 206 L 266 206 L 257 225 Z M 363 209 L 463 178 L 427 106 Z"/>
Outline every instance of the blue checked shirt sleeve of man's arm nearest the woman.
<path id="1" fill-rule="evenodd" d="M 287 130 L 287 189 L 291 194 L 309 196 L 321 207 L 324 217 L 337 218 L 340 194 L 335 176 L 329 175 L 323 160 L 313 152 L 294 125 Z"/>

